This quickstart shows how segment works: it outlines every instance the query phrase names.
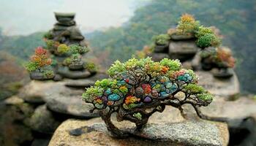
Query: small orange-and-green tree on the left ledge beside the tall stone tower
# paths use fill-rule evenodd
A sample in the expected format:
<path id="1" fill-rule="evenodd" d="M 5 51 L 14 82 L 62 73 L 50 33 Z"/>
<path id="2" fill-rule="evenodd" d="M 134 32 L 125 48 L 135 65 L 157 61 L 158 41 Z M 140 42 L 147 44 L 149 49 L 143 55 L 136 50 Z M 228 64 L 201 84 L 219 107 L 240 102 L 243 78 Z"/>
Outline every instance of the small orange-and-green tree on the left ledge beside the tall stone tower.
<path id="1" fill-rule="evenodd" d="M 48 51 L 42 47 L 37 47 L 34 55 L 31 56 L 30 61 L 26 64 L 26 69 L 30 72 L 32 79 L 50 79 L 54 77 L 54 72 L 50 69 L 51 62 Z"/>

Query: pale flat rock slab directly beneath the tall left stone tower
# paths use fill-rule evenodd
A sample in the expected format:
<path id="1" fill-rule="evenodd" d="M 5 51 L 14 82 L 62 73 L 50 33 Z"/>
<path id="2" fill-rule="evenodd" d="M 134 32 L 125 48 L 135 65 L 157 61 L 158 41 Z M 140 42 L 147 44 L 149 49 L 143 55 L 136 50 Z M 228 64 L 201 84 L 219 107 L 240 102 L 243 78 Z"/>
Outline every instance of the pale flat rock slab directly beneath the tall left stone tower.
<path id="1" fill-rule="evenodd" d="M 46 103 L 53 112 L 71 115 L 78 118 L 97 117 L 97 113 L 90 113 L 92 104 L 86 104 L 81 96 L 83 89 L 68 88 L 66 82 L 31 81 L 19 96 L 30 103 Z"/>

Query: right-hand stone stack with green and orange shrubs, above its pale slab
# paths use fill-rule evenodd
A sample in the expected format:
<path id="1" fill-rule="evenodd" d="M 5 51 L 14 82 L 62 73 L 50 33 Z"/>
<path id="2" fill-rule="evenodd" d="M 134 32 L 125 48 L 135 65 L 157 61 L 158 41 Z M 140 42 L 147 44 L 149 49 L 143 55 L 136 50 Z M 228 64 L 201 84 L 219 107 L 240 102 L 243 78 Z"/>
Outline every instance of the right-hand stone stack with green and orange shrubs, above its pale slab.
<path id="1" fill-rule="evenodd" d="M 227 47 L 223 49 L 224 47 L 220 46 L 221 39 L 217 28 L 200 26 L 200 22 L 192 15 L 182 15 L 176 28 L 170 28 L 167 34 L 160 34 L 153 39 L 154 53 L 151 56 L 154 60 L 179 59 L 184 66 L 190 69 L 219 69 L 219 72 L 214 74 L 216 77 L 233 75 L 233 72 L 227 72 L 227 69 L 233 68 L 235 60 Z M 213 53 L 214 50 L 215 53 Z M 225 51 L 225 56 L 220 56 L 220 52 L 223 51 Z"/>

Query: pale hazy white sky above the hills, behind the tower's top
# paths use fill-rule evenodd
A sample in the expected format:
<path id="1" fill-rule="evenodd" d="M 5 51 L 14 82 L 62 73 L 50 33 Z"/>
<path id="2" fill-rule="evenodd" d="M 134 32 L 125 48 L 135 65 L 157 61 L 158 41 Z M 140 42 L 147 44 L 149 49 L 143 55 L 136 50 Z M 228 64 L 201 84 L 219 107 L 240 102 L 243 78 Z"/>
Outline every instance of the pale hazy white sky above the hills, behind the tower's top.
<path id="1" fill-rule="evenodd" d="M 56 23 L 53 12 L 76 12 L 79 28 L 90 32 L 120 26 L 135 6 L 135 0 L 0 0 L 0 27 L 7 35 L 47 31 Z"/>

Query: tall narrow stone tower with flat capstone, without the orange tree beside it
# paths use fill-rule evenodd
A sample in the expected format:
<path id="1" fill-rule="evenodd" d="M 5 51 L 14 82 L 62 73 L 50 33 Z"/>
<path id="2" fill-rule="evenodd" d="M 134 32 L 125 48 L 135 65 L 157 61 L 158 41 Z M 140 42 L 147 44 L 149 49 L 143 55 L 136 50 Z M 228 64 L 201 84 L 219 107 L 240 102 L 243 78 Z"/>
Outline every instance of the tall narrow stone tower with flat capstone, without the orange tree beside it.
<path id="1" fill-rule="evenodd" d="M 79 85 L 76 85 L 86 87 L 88 82 L 83 79 L 92 77 L 97 73 L 97 69 L 93 63 L 83 58 L 89 52 L 89 47 L 76 26 L 75 13 L 55 12 L 55 16 L 58 22 L 45 34 L 46 48 L 56 63 L 53 64 L 56 69 L 53 80 L 68 78 L 75 80 L 72 85 L 79 82 Z"/>

